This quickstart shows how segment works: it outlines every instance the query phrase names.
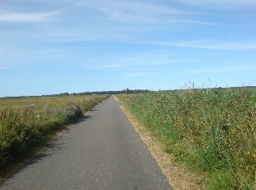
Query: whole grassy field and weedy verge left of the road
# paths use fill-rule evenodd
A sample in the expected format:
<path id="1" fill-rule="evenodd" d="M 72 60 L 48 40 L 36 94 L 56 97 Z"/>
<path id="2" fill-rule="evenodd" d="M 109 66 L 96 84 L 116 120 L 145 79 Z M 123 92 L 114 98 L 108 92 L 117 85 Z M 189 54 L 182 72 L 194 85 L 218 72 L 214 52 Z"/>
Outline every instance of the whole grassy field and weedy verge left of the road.
<path id="1" fill-rule="evenodd" d="M 0 99 L 0 176 L 107 95 Z"/>

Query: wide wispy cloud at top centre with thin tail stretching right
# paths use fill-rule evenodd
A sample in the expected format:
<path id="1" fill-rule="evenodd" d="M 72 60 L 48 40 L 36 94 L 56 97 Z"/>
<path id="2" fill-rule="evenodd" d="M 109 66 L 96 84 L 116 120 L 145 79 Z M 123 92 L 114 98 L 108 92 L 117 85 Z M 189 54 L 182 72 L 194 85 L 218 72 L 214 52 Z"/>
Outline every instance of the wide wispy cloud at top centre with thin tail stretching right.
<path id="1" fill-rule="evenodd" d="M 78 2 L 80 6 L 88 6 L 106 15 L 107 19 L 124 23 L 189 23 L 208 26 L 224 26 L 225 23 L 206 22 L 194 19 L 178 19 L 181 15 L 195 14 L 187 10 L 180 10 L 171 6 L 143 2 Z M 178 16 L 178 17 L 177 17 Z M 174 19 L 170 19 L 174 18 Z"/>

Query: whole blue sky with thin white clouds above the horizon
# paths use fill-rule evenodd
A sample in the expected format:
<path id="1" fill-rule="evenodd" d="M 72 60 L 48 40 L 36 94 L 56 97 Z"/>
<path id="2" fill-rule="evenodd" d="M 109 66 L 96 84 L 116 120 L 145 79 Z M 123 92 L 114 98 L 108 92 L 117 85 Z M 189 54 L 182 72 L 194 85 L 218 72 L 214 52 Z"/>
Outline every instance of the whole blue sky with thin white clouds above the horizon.
<path id="1" fill-rule="evenodd" d="M 255 0 L 2 0 L 0 97 L 256 85 Z"/>

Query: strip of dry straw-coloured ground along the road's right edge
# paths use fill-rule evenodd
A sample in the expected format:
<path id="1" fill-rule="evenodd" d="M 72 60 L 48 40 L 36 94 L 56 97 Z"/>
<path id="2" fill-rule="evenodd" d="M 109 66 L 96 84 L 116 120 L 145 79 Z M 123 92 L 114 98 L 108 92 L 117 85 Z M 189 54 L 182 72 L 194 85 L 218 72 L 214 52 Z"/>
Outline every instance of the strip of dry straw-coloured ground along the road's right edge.
<path id="1" fill-rule="evenodd" d="M 116 97 L 115 100 L 117 100 Z M 170 185 L 175 190 L 203 188 L 199 185 L 201 179 L 198 175 L 187 171 L 187 169 L 180 163 L 175 163 L 174 156 L 163 151 L 164 147 L 162 143 L 158 142 L 157 138 L 153 137 L 151 131 L 137 122 L 125 106 L 121 106 L 120 108 L 124 110 L 129 121 L 132 123 L 138 134 L 140 134 L 141 139 L 149 147 L 149 151 L 151 151 L 153 158 L 157 160 L 158 165 L 162 168 L 162 172 L 167 176 Z"/>

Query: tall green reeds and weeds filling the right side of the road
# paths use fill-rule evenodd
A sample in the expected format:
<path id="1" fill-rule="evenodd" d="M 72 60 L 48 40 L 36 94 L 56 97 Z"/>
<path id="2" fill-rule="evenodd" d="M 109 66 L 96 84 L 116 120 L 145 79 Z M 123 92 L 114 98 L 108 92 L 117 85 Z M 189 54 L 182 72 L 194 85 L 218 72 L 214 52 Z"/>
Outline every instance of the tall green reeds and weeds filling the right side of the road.
<path id="1" fill-rule="evenodd" d="M 256 189 L 256 89 L 117 95 L 208 189 Z"/>

